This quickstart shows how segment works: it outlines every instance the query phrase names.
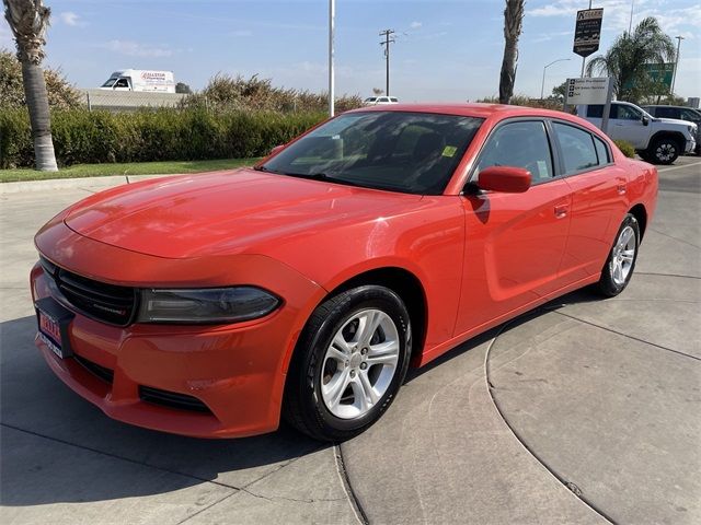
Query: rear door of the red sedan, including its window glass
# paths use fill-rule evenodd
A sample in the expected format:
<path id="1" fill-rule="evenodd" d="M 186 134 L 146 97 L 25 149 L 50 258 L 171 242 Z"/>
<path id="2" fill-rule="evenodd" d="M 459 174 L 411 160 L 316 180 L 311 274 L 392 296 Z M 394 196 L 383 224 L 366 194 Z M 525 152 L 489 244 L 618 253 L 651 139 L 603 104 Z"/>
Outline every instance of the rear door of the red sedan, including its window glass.
<path id="1" fill-rule="evenodd" d="M 572 122 L 553 121 L 561 172 L 572 188 L 570 235 L 560 268 L 564 284 L 599 271 L 627 207 L 627 175 L 608 144 Z"/>

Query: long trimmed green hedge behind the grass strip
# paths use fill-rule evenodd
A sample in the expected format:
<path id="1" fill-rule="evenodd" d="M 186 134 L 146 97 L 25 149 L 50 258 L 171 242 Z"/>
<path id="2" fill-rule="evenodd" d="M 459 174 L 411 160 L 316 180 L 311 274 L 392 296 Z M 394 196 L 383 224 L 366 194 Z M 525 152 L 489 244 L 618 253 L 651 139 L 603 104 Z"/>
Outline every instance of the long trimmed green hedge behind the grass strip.
<path id="1" fill-rule="evenodd" d="M 267 154 L 323 118 L 317 113 L 211 113 L 205 108 L 136 113 L 65 109 L 51 112 L 51 132 L 60 166 L 243 159 Z M 0 110 L 0 168 L 33 165 L 26 109 Z"/>

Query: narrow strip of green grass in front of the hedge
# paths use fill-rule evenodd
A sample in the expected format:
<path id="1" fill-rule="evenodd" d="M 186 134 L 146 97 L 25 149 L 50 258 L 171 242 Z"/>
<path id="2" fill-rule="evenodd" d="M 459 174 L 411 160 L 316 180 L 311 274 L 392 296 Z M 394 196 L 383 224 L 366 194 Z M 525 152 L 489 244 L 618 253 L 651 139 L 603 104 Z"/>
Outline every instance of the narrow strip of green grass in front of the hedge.
<path id="1" fill-rule="evenodd" d="M 124 164 L 76 164 L 58 172 L 30 168 L 0 170 L 0 183 L 45 180 L 49 178 L 106 177 L 110 175 L 170 175 L 215 172 L 251 166 L 258 159 L 221 159 L 215 161 L 128 162 Z"/>

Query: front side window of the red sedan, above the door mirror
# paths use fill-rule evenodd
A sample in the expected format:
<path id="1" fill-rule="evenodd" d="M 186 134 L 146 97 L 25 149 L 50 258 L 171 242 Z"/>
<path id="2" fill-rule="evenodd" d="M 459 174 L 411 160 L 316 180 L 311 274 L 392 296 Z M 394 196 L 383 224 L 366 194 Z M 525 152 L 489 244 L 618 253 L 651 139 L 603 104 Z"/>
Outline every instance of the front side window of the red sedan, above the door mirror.
<path id="1" fill-rule="evenodd" d="M 542 121 L 512 122 L 489 138 L 473 176 L 490 166 L 524 167 L 533 184 L 553 177 L 552 154 Z"/>

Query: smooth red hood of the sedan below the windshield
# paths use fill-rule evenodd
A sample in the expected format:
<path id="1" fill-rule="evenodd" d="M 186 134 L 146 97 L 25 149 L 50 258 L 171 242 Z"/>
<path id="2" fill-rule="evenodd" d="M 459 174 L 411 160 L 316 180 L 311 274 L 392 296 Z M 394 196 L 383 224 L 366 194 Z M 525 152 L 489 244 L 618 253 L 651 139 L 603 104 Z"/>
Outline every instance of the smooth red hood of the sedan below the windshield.
<path id="1" fill-rule="evenodd" d="M 120 186 L 77 203 L 65 222 L 101 243 L 159 257 L 265 254 L 267 243 L 388 217 L 418 200 L 238 170 Z"/>

